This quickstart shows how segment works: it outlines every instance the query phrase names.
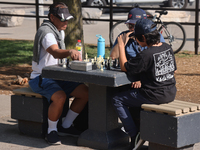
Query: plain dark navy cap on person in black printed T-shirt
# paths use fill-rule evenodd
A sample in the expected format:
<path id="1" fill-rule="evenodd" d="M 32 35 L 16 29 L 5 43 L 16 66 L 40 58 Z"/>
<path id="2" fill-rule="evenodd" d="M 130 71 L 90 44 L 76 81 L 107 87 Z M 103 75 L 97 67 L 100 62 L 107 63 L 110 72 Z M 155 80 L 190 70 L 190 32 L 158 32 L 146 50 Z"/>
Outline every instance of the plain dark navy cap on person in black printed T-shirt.
<path id="1" fill-rule="evenodd" d="M 152 28 L 152 25 L 155 25 Z M 149 19 L 139 19 L 135 24 L 134 35 L 144 35 L 155 31 L 157 29 L 156 24 Z"/>

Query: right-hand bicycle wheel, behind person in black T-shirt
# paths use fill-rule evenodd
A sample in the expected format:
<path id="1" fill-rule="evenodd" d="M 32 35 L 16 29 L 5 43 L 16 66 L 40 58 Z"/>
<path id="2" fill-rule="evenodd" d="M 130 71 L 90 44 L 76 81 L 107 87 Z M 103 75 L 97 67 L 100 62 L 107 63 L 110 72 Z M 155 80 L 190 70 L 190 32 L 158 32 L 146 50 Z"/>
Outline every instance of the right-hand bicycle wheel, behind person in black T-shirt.
<path id="1" fill-rule="evenodd" d="M 177 22 L 164 23 L 159 28 L 160 33 L 165 39 L 165 42 L 172 46 L 175 53 L 178 53 L 185 45 L 186 34 L 181 24 Z"/>

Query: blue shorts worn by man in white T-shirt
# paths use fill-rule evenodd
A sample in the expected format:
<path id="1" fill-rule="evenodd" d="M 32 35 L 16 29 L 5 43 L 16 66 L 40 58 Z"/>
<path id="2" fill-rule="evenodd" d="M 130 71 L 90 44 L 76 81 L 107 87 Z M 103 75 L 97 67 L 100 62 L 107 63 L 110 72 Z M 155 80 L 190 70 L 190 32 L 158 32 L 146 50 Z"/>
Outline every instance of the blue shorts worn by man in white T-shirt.
<path id="1" fill-rule="evenodd" d="M 67 98 L 70 98 L 70 94 L 74 89 L 82 83 L 62 81 L 62 80 L 53 80 L 49 78 L 42 78 L 41 84 L 39 86 L 40 77 L 35 77 L 29 81 L 29 85 L 33 92 L 39 93 L 40 95 L 47 98 L 50 102 L 51 96 L 57 91 L 64 91 L 67 95 Z"/>

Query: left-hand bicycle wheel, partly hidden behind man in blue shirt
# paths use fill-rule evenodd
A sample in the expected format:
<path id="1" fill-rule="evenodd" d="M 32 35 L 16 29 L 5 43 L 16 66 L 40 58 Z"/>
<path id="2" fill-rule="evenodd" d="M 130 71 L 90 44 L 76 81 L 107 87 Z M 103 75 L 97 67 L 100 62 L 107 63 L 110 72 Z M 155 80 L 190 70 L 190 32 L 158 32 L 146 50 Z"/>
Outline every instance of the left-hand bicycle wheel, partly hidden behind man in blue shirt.
<path id="1" fill-rule="evenodd" d="M 112 43 L 112 45 L 115 43 L 115 40 L 117 38 L 117 36 L 122 32 L 122 31 L 126 31 L 128 30 L 128 27 L 125 24 L 126 21 L 122 20 L 122 21 L 118 21 L 117 23 L 115 23 L 110 31 L 110 41 Z"/>

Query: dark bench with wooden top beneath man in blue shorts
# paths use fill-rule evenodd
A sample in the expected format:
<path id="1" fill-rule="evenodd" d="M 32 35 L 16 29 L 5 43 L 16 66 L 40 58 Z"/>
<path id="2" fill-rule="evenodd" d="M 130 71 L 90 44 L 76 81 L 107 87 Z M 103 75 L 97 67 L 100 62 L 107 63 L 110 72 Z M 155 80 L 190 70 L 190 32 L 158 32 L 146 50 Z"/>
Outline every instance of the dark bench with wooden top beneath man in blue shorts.
<path id="1" fill-rule="evenodd" d="M 22 88 L 11 96 L 11 118 L 18 120 L 21 133 L 43 137 L 47 131 L 48 102 L 41 95 Z"/>

